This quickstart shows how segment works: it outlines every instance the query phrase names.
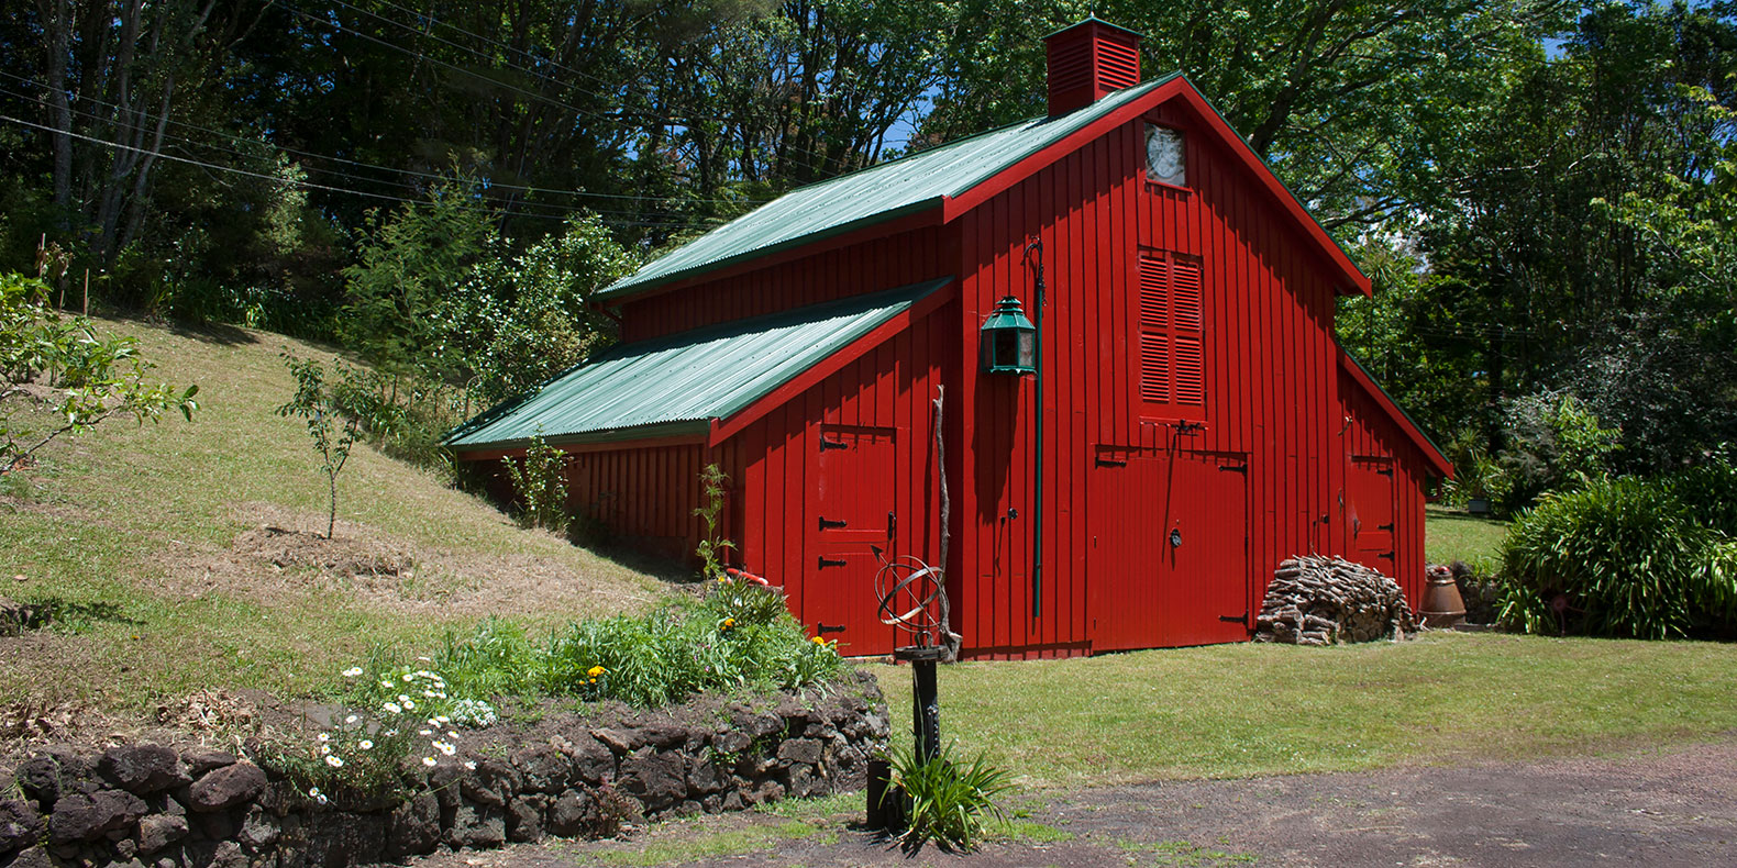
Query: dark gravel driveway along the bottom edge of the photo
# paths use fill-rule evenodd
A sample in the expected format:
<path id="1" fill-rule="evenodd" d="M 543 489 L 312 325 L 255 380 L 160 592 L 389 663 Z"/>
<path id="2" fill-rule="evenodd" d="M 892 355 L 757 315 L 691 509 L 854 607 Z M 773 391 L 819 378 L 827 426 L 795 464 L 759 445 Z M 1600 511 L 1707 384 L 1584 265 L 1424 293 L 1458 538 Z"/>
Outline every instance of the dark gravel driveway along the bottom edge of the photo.
<path id="1" fill-rule="evenodd" d="M 823 816 L 662 823 L 634 842 L 551 842 L 417 868 L 691 866 L 1582 866 L 1737 865 L 1737 734 L 1617 759 L 1294 774 L 1016 799 L 1011 840 L 907 854 Z M 797 809 L 799 814 L 799 809 Z"/>

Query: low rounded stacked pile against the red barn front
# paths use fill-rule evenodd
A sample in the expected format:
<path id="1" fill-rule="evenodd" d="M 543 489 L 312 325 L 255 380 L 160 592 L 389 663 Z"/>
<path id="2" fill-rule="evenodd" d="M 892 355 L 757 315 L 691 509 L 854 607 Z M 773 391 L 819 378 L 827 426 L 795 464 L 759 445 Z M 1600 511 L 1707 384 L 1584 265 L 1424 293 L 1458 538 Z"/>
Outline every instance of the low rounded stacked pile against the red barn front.
<path id="1" fill-rule="evenodd" d="M 1278 564 L 1254 623 L 1256 642 L 1299 646 L 1403 639 L 1417 628 L 1397 582 L 1364 564 L 1325 556 Z"/>

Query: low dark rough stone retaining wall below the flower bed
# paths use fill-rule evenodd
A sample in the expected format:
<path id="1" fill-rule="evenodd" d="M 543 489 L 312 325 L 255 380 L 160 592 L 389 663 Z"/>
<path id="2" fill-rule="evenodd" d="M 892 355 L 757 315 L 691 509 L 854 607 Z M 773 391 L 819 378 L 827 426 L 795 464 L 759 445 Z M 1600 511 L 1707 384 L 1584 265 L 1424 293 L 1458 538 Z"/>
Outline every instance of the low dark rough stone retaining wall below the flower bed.
<path id="1" fill-rule="evenodd" d="M 467 738 L 476 750 L 457 762 L 406 764 L 410 797 L 393 800 L 311 797 L 248 750 L 45 748 L 17 766 L 16 788 L 0 776 L 0 868 L 337 868 L 439 847 L 608 835 L 624 814 L 738 811 L 858 790 L 868 757 L 886 745 L 888 719 L 874 679 L 856 677 L 809 701 L 563 715 L 512 729 L 514 741 L 495 727 Z"/>

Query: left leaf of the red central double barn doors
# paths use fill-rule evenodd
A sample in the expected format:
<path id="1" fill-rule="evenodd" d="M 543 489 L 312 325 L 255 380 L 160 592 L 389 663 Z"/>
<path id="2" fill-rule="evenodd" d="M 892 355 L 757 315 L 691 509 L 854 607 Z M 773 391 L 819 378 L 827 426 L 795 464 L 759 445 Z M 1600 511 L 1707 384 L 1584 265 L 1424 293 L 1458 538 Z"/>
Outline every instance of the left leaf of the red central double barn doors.
<path id="1" fill-rule="evenodd" d="M 1086 550 L 1093 651 L 1152 648 L 1159 639 L 1166 462 L 1152 453 L 1100 448 L 1087 470 Z"/>

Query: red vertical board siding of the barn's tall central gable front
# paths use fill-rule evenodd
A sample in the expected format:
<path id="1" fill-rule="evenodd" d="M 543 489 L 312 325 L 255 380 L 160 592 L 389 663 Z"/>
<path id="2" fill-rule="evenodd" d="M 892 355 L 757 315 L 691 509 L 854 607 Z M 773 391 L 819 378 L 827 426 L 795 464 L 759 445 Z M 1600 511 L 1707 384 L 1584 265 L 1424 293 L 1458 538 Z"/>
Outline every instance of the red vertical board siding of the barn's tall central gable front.
<path id="1" fill-rule="evenodd" d="M 1176 597 L 1166 597 L 1167 606 L 1190 606 L 1207 625 L 1178 634 L 1181 641 L 1211 639 L 1221 608 L 1237 609 L 1225 615 L 1258 609 L 1266 578 L 1284 557 L 1337 552 L 1343 545 L 1332 273 L 1256 179 L 1197 132 L 1200 125 L 1186 108 L 1172 102 L 1148 118 L 1188 134 L 1188 189 L 1145 181 L 1141 120 L 959 220 L 961 398 L 974 415 L 964 444 L 974 481 L 955 498 L 957 512 L 966 516 L 955 536 L 966 564 L 955 609 L 966 648 L 976 656 L 1087 653 L 1098 648 L 1098 621 L 1106 608 L 1134 602 L 1119 597 L 1117 589 L 1093 587 L 1093 575 L 1103 571 L 1091 564 L 1141 564 L 1162 556 L 1150 547 L 1164 529 L 1113 514 L 1113 500 L 1091 496 L 1094 474 L 1105 472 L 1094 458 L 1105 448 L 1166 462 L 1181 460 L 1179 450 L 1247 462 L 1244 493 L 1223 495 L 1244 498 L 1245 536 L 1226 531 L 1205 543 L 1225 549 L 1221 562 L 1247 564 L 1244 576 L 1221 576 L 1226 587 L 1247 589 L 1245 601 L 1235 606 L 1204 590 L 1176 590 Z M 1032 304 L 1034 278 L 1021 250 L 1034 236 L 1044 245 L 1049 299 L 1042 354 L 1042 606 L 1035 616 L 1034 382 L 974 373 L 976 328 L 994 300 L 1011 292 Z M 1176 431 L 1176 410 L 1138 398 L 1141 247 L 1202 262 L 1207 394 L 1205 429 L 1195 434 Z M 1232 552 L 1238 545 L 1245 557 L 1228 557 L 1244 554 Z M 1176 644 L 1176 635 L 1126 635 L 1106 648 L 1157 644 Z"/>

